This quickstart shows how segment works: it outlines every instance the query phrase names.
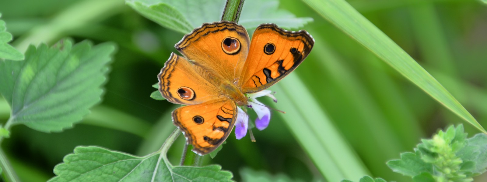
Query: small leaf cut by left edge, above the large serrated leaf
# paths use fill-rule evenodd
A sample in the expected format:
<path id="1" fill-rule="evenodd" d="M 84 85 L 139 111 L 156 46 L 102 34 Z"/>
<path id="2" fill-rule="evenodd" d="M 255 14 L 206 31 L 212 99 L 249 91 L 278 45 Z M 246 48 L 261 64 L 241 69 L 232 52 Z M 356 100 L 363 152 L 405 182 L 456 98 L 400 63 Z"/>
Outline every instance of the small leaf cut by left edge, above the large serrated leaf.
<path id="1" fill-rule="evenodd" d="M 0 13 L 1 17 L 1 13 Z M 23 60 L 24 55 L 8 44 L 12 40 L 12 34 L 7 32 L 5 21 L 0 19 L 0 59 Z"/>

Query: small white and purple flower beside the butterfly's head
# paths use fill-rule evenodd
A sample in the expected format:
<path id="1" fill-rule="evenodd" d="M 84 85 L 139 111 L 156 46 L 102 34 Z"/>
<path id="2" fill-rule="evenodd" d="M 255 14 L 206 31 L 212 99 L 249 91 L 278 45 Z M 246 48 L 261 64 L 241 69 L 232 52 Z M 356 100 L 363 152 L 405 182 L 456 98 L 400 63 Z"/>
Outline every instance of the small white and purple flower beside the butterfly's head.
<path id="1" fill-rule="evenodd" d="M 256 98 L 267 96 L 272 98 L 274 102 L 277 102 L 277 99 L 271 93 L 272 91 L 270 90 L 262 90 L 257 93 L 247 94 L 249 98 L 249 105 L 247 105 L 247 107 L 254 109 L 255 113 L 257 114 L 257 118 L 255 119 L 255 127 L 259 130 L 263 130 L 269 125 L 271 111 Z M 240 140 L 247 134 L 248 115 L 241 108 L 238 109 L 237 121 L 235 123 L 235 136 Z"/>

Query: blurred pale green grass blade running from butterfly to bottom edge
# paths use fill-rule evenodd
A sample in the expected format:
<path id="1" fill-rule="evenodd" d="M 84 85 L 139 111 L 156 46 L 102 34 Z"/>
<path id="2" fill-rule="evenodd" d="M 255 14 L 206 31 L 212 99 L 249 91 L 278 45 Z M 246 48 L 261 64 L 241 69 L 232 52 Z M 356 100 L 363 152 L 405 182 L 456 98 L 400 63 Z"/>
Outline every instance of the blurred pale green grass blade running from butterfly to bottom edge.
<path id="1" fill-rule="evenodd" d="M 327 181 L 367 175 L 361 160 L 296 74 L 288 75 L 272 90 L 286 96 L 280 97 L 279 107 L 275 107 L 287 111 L 282 119 Z"/>

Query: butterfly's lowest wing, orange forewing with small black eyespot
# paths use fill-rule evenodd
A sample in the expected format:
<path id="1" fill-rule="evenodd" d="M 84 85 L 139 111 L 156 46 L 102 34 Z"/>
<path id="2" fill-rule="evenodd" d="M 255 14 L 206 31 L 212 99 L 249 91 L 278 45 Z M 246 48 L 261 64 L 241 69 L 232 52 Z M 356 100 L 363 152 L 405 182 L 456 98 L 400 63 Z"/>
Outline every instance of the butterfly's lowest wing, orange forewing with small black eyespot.
<path id="1" fill-rule="evenodd" d="M 237 118 L 237 105 L 229 99 L 210 100 L 183 106 L 172 112 L 172 119 L 183 131 L 193 151 L 205 155 L 228 137 Z"/>

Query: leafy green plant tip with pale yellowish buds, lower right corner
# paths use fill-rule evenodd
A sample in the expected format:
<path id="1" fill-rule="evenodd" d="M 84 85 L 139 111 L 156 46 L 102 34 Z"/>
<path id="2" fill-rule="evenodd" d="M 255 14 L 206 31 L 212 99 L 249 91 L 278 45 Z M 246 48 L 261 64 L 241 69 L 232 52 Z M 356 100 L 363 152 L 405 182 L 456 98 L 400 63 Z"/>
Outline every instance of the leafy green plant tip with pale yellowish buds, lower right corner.
<path id="1" fill-rule="evenodd" d="M 471 182 L 487 167 L 487 135 L 476 134 L 467 139 L 463 125 L 450 126 L 432 139 L 423 139 L 414 153 L 401 153 L 400 160 L 387 162 L 415 182 Z"/>

